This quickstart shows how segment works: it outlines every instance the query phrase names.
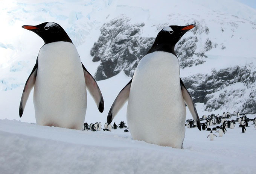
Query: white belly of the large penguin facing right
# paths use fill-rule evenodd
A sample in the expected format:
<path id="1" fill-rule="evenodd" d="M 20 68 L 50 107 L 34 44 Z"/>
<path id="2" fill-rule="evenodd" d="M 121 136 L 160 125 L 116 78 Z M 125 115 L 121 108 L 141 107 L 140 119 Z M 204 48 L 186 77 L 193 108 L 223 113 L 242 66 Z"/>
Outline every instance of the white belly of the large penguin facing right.
<path id="1" fill-rule="evenodd" d="M 133 139 L 181 148 L 185 120 L 177 57 L 163 51 L 147 54 L 136 68 L 128 100 Z"/>

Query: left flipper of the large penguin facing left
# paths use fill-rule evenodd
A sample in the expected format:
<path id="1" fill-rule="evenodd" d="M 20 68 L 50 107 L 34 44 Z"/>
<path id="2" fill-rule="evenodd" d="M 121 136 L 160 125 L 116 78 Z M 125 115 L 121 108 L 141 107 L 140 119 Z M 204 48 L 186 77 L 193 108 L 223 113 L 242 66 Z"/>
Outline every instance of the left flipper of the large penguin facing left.
<path id="1" fill-rule="evenodd" d="M 23 114 L 23 110 L 26 106 L 27 103 L 27 99 L 29 98 L 29 94 L 32 90 L 32 88 L 35 85 L 35 79 L 37 77 L 37 67 L 38 67 L 38 63 L 36 61 L 35 66 L 32 70 L 32 72 L 30 73 L 29 77 L 27 78 L 27 81 L 25 83 L 22 95 L 21 95 L 21 99 L 20 99 L 20 109 L 19 109 L 19 115 L 20 117 Z"/>

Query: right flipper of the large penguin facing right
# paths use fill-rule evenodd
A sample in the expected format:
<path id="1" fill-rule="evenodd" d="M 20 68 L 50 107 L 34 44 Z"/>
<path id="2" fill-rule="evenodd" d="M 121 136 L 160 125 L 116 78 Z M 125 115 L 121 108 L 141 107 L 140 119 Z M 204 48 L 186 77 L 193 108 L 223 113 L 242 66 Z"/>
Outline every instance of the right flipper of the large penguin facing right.
<path id="1" fill-rule="evenodd" d="M 195 123 L 197 124 L 197 128 L 199 130 L 201 130 L 201 123 L 200 123 L 200 119 L 198 117 L 197 109 L 195 108 L 195 104 L 192 100 L 192 97 L 189 94 L 189 92 L 187 91 L 187 88 L 184 85 L 184 83 L 182 82 L 181 78 L 180 78 L 180 86 L 181 86 L 181 92 L 182 92 L 183 99 L 184 99 L 187 107 L 189 108 L 189 111 L 192 114 L 192 117 L 194 118 Z"/>

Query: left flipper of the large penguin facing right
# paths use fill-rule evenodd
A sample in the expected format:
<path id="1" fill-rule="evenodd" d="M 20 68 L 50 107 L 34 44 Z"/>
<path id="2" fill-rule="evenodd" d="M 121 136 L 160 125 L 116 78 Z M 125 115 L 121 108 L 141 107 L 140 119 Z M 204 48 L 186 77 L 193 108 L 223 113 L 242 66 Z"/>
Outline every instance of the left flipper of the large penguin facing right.
<path id="1" fill-rule="evenodd" d="M 110 124 L 114 117 L 116 116 L 117 112 L 123 107 L 130 95 L 130 88 L 131 88 L 131 81 L 125 85 L 125 87 L 119 92 L 115 101 L 113 102 L 107 117 L 107 123 Z"/>

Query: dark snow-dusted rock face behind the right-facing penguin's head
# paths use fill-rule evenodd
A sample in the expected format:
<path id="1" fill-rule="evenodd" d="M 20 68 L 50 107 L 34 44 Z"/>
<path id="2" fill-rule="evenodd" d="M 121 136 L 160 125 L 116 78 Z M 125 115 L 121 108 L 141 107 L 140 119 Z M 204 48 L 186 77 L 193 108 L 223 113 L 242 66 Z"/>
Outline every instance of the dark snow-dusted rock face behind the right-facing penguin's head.
<path id="1" fill-rule="evenodd" d="M 122 15 L 101 27 L 98 41 L 91 48 L 93 62 L 101 61 L 95 74 L 96 80 L 108 79 L 122 70 L 127 76 L 132 77 L 140 59 L 152 46 L 154 37 L 141 36 L 145 24 L 130 21 L 130 18 Z M 175 45 L 175 52 L 180 59 L 180 68 L 203 64 L 207 57 L 204 53 L 215 46 L 207 38 L 202 47 L 197 35 L 201 33 L 208 35 L 209 29 L 199 21 L 194 21 L 194 24 L 197 25 L 192 31 L 194 36 L 183 36 Z M 160 24 L 157 28 L 163 26 L 166 24 Z M 200 49 L 197 49 L 198 47 Z"/>

